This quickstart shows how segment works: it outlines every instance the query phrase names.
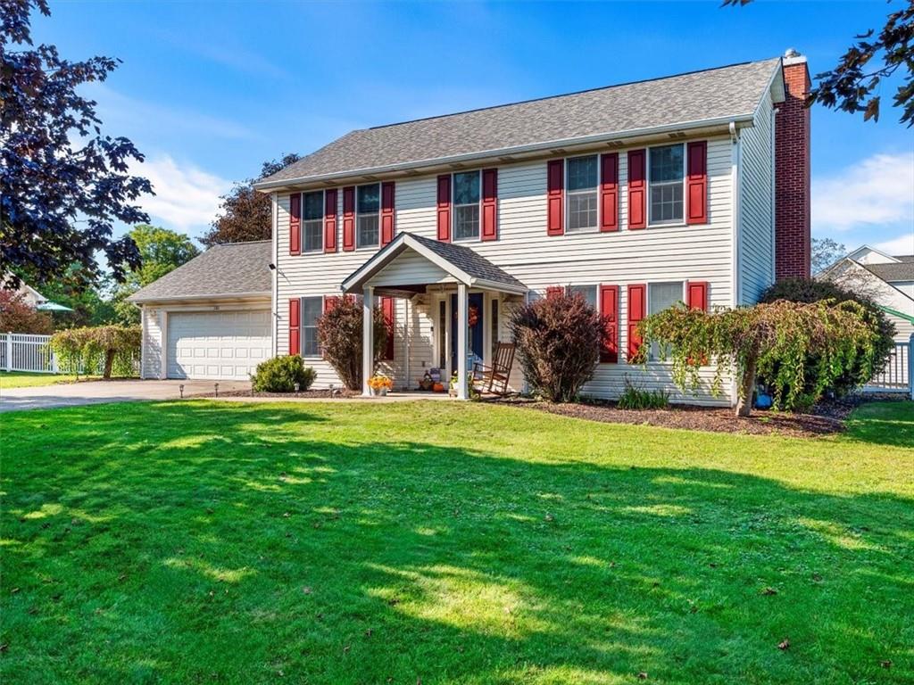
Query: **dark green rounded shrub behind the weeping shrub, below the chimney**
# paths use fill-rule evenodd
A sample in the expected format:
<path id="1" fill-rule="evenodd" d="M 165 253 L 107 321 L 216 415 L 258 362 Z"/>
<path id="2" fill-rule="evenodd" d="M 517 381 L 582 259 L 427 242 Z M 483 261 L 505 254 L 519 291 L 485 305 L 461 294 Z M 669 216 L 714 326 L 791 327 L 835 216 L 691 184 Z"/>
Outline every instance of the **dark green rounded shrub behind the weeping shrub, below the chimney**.
<path id="1" fill-rule="evenodd" d="M 761 294 L 761 302 L 788 300 L 791 302 L 820 302 L 832 300 L 834 303 L 853 301 L 863 308 L 863 319 L 866 325 L 876 334 L 872 356 L 860 355 L 855 363 L 845 368 L 843 373 L 834 376 L 824 392 L 843 396 L 854 390 L 861 383 L 873 377 L 886 364 L 888 355 L 895 345 L 895 324 L 879 309 L 875 300 L 860 292 L 847 290 L 827 280 L 783 279 L 772 285 Z M 816 387 L 819 385 L 818 369 L 820 360 L 817 355 L 810 355 L 806 360 L 806 373 L 802 390 L 799 392 L 797 406 L 810 406 L 816 398 Z M 780 367 L 775 365 L 767 375 L 760 375 L 760 382 L 768 384 L 771 377 L 777 375 Z"/>

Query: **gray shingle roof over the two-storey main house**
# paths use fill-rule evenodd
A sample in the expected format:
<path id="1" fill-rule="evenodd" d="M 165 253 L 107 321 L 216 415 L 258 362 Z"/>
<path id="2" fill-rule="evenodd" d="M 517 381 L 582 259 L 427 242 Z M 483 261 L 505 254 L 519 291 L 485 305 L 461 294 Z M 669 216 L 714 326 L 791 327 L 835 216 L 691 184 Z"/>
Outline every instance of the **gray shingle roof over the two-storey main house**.
<path id="1" fill-rule="evenodd" d="M 749 115 L 780 59 L 346 133 L 260 184 Z"/>

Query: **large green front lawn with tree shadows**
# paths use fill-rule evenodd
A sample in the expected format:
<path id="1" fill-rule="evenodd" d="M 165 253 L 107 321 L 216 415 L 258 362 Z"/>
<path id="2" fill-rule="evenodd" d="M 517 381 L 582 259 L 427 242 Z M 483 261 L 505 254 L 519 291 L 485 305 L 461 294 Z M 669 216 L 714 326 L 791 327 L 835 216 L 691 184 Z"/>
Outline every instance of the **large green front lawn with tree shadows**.
<path id="1" fill-rule="evenodd" d="M 911 403 L 820 440 L 443 402 L 2 422 L 3 682 L 914 681 Z"/>

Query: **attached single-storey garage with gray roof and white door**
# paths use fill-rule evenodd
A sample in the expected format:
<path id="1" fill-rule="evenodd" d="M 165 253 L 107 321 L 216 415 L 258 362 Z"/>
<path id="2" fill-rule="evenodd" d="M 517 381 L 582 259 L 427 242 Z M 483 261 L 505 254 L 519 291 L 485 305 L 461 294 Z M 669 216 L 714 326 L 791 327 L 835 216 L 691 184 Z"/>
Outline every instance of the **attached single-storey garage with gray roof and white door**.
<path id="1" fill-rule="evenodd" d="M 272 355 L 271 242 L 202 255 L 134 293 L 143 378 L 247 381 Z"/>

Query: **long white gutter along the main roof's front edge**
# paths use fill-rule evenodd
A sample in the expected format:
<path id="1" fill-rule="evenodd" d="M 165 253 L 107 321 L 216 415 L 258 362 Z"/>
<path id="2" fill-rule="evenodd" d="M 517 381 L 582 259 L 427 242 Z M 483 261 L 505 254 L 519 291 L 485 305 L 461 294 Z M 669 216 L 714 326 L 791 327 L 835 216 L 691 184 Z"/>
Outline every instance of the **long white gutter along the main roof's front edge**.
<path id="1" fill-rule="evenodd" d="M 717 126 L 728 128 L 731 122 L 739 126 L 739 128 L 749 128 L 753 125 L 753 116 L 753 112 L 748 112 L 745 114 L 739 114 L 737 116 L 717 117 L 715 119 L 700 119 L 697 121 L 682 121 L 674 124 L 664 124 L 663 126 L 650 126 L 643 129 L 629 129 L 628 131 L 597 133 L 595 135 L 579 136 L 577 138 L 563 138 L 557 141 L 534 142 L 527 145 L 516 145 L 515 147 L 484 150 L 478 153 L 454 154 L 446 157 L 430 157 L 429 159 L 417 160 L 415 162 L 385 164 L 384 166 L 370 166 L 364 169 L 348 169 L 346 171 L 334 172 L 332 174 L 299 176 L 298 178 L 286 178 L 276 181 L 261 181 L 260 183 L 254 184 L 254 189 L 260 191 L 260 193 L 266 193 L 274 188 L 281 188 L 286 185 L 335 181 L 342 178 L 348 178 L 350 176 L 361 176 L 366 174 L 388 174 L 399 171 L 409 171 L 410 169 L 421 169 L 428 166 L 437 166 L 439 164 L 472 162 L 478 159 L 486 159 L 488 157 L 503 156 L 509 154 L 546 152 L 567 145 L 588 145 L 597 142 L 616 141 L 624 138 L 661 135 L 663 133 L 676 131 L 685 132 L 694 129 L 714 128 Z"/>

